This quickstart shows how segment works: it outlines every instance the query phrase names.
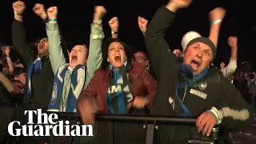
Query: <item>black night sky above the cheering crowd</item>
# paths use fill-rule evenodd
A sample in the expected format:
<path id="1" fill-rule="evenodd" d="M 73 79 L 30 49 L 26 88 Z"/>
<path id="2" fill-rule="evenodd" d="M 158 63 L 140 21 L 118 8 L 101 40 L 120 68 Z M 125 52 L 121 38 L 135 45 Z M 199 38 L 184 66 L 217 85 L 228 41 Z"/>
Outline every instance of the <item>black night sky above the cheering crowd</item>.
<path id="1" fill-rule="evenodd" d="M 159 6 L 165 5 L 167 0 L 23 0 L 26 2 L 24 22 L 28 42 L 46 37 L 42 20 L 33 12 L 35 3 L 46 6 L 58 6 L 58 23 L 62 35 L 66 39 L 68 48 L 76 44 L 89 45 L 90 22 L 92 22 L 94 6 L 106 7 L 108 13 L 103 19 L 106 38 L 110 36 L 107 22 L 117 16 L 120 23 L 119 38 L 138 50 L 144 50 L 143 36 L 138 29 L 138 16 L 148 20 L 152 18 Z M 11 23 L 14 18 L 13 0 L 0 0 L 0 42 L 11 45 Z M 186 32 L 196 30 L 203 36 L 208 36 L 210 22 L 208 14 L 214 7 L 222 6 L 226 9 L 226 18 L 222 23 L 218 43 L 218 55 L 215 64 L 227 62 L 230 58 L 230 47 L 227 38 L 238 36 L 238 62 L 250 61 L 256 67 L 256 8 L 254 0 L 194 0 L 184 10 L 179 10 L 174 25 L 167 31 L 166 40 L 170 42 L 172 50 L 181 49 L 181 39 Z"/>

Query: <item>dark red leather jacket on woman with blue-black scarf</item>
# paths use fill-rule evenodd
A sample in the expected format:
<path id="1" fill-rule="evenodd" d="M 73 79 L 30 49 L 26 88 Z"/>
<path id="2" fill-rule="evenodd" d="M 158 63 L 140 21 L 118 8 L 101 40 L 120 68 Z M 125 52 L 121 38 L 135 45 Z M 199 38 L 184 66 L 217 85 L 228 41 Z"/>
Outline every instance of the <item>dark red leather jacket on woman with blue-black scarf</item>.
<path id="1" fill-rule="evenodd" d="M 83 91 L 80 97 L 96 98 L 99 114 L 108 114 L 108 106 L 106 101 L 107 89 L 109 87 L 110 70 L 100 69 L 94 74 L 89 86 Z M 151 108 L 154 102 L 157 83 L 150 74 L 138 62 L 132 62 L 130 66 L 129 82 L 131 93 L 134 98 L 136 96 L 145 96 L 149 98 L 148 108 Z M 82 101 L 84 98 L 79 98 Z"/>

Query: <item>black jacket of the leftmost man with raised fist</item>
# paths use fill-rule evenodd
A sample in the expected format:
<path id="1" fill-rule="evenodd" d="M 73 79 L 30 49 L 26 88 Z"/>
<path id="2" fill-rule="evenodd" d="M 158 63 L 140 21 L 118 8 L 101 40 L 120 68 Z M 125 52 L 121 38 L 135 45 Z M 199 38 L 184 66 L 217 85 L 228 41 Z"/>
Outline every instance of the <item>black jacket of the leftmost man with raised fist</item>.
<path id="1" fill-rule="evenodd" d="M 23 66 L 28 70 L 28 67 L 34 62 L 35 58 L 33 57 L 29 44 L 26 42 L 26 31 L 23 23 L 15 19 L 12 25 L 12 41 L 14 47 L 22 57 Z M 53 83 L 54 73 L 50 65 L 50 59 L 42 58 L 42 72 L 31 76 L 32 96 L 30 100 L 27 99 L 27 90 L 25 88 L 24 104 L 28 102 L 35 104 L 32 107 L 29 106 L 28 109 L 42 108 L 42 110 L 47 110 Z M 26 82 L 27 84 L 28 82 Z"/>

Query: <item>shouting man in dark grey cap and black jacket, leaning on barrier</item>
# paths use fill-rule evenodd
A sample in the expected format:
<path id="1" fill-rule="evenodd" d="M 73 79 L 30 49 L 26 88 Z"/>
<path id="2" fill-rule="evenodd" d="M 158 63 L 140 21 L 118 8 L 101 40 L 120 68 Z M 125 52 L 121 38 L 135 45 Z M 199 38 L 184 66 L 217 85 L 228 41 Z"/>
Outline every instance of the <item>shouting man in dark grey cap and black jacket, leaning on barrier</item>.
<path id="1" fill-rule="evenodd" d="M 250 106 L 219 70 L 210 68 L 216 57 L 216 40 L 192 39 L 180 62 L 164 39 L 166 30 L 174 22 L 175 12 L 190 2 L 170 0 L 158 9 L 147 27 L 146 50 L 158 79 L 151 114 L 198 117 L 198 131 L 207 136 L 215 125 L 226 131 L 244 130 L 252 120 Z M 219 28 L 221 22 L 222 18 L 216 18 L 211 24 L 218 23 Z"/>

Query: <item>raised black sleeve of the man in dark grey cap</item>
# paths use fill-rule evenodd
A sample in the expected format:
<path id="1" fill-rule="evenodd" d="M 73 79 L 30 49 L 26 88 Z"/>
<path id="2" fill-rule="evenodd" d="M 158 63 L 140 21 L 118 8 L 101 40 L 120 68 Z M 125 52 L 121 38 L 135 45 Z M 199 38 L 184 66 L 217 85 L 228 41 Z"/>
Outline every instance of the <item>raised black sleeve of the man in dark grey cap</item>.
<path id="1" fill-rule="evenodd" d="M 156 77 L 158 77 L 159 64 L 166 60 L 166 57 L 175 58 L 164 38 L 166 30 L 174 22 L 174 18 L 175 14 L 165 6 L 162 6 L 154 14 L 149 26 L 147 26 L 145 34 L 146 52 L 149 56 L 150 67 L 153 68 Z"/>

